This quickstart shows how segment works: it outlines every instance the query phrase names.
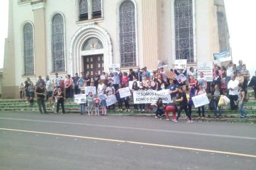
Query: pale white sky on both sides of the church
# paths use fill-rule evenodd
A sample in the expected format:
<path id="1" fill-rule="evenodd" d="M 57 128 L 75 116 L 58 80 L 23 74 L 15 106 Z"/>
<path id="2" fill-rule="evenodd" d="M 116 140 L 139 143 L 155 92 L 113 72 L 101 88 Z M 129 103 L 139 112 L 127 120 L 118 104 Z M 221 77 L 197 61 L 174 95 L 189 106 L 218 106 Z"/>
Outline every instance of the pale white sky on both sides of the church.
<path id="1" fill-rule="evenodd" d="M 0 68 L 4 63 L 4 39 L 8 35 L 8 1 L 2 0 L 0 6 Z M 206 0 L 208 1 L 208 0 Z M 256 71 L 256 1 L 255 0 L 224 0 L 226 16 L 230 31 L 230 45 L 233 62 L 243 60 L 251 74 Z"/>

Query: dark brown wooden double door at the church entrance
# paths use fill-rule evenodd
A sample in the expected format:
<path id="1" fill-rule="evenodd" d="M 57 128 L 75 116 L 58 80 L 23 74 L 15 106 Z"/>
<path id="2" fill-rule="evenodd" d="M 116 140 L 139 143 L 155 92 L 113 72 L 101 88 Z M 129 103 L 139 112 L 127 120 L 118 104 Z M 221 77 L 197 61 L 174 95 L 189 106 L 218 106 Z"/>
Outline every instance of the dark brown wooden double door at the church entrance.
<path id="1" fill-rule="evenodd" d="M 102 74 L 104 72 L 103 54 L 83 56 L 84 73 L 91 77 L 95 76 L 95 72 Z"/>

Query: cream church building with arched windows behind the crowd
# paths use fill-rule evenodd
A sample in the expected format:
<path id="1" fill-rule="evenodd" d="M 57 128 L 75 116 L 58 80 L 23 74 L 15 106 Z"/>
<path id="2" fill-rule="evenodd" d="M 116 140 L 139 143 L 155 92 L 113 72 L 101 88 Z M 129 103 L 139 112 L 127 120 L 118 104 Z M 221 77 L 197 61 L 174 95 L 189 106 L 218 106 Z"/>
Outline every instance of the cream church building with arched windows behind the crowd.
<path id="1" fill-rule="evenodd" d="M 26 77 L 196 66 L 228 49 L 223 0 L 9 0 L 2 97 Z"/>

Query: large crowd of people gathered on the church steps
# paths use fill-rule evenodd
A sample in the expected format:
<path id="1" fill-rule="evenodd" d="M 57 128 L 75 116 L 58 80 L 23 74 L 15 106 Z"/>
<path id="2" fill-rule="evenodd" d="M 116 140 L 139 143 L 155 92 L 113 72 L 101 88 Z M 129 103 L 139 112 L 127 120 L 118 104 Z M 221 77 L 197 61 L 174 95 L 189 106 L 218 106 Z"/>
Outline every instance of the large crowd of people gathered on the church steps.
<path id="1" fill-rule="evenodd" d="M 177 80 L 179 75 L 183 75 L 187 79 Z M 159 98 L 156 103 L 133 104 L 134 111 L 151 111 L 154 108 L 156 118 L 165 115 L 166 120 L 170 120 L 168 112 L 172 111 L 172 121 L 177 122 L 180 113 L 184 110 L 188 118 L 187 122 L 192 123 L 191 113 L 194 106 L 192 97 L 204 93 L 209 94 L 208 96 L 211 98 L 209 107 L 212 106 L 212 110 L 214 110 L 214 118 L 217 118 L 217 115 L 222 118 L 222 109 L 218 105 L 221 95 L 228 96 L 231 110 L 239 109 L 241 118 L 246 117 L 247 111 L 245 111 L 243 105 L 246 100 L 248 86 L 252 86 L 254 89 L 256 99 L 256 72 L 250 81 L 250 72 L 240 60 L 238 65 L 230 62 L 226 67 L 214 64 L 212 77 L 212 81 L 207 81 L 204 73 L 197 72 L 194 67 L 190 67 L 188 70 L 170 69 L 170 71 L 164 71 L 164 68 L 160 67 L 153 72 L 149 72 L 144 67 L 136 71 L 129 69 L 128 73 L 111 72 L 108 74 L 103 72 L 99 75 L 98 72 L 95 72 L 93 77 L 84 74 L 84 72 L 81 72 L 80 77 L 78 73 L 74 77 L 71 77 L 71 75 L 59 77 L 56 73 L 53 79 L 46 76 L 44 80 L 39 76 L 37 82 L 32 82 L 29 78 L 24 83 L 21 82 L 20 98 L 26 98 L 26 102 L 33 105 L 35 94 L 37 94 L 40 113 L 43 113 L 43 111 L 47 113 L 45 99 L 49 101 L 50 106 L 56 107 L 57 113 L 59 113 L 60 106 L 62 113 L 65 113 L 64 99 L 73 98 L 74 94 L 83 94 L 86 87 L 95 86 L 97 94 L 88 93 L 86 103 L 80 104 L 81 115 L 86 112 L 88 115 L 100 115 L 100 106 L 102 107 L 101 115 L 107 115 L 107 110 L 115 110 L 115 105 L 107 107 L 106 103 L 107 96 L 112 94 L 117 98 L 117 111 L 131 111 L 130 103 L 133 95 L 120 98 L 119 89 L 129 87 L 129 82 L 132 81 L 131 94 L 140 90 L 161 91 L 169 89 L 172 98 L 170 103 L 163 103 L 162 99 Z M 197 110 L 199 118 L 204 118 L 205 107 L 200 106 Z M 178 113 L 177 116 L 176 113 Z"/>

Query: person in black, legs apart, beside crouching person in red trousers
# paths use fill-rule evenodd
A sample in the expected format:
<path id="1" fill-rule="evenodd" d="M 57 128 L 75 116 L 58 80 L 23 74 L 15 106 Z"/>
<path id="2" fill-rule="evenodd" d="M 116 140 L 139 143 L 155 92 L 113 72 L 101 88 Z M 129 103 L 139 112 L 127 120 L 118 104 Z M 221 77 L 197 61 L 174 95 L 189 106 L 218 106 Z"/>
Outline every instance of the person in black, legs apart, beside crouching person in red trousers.
<path id="1" fill-rule="evenodd" d="M 178 116 L 177 119 L 180 118 L 180 112 L 182 112 L 182 110 L 185 110 L 186 115 L 189 117 L 189 121 L 187 123 L 192 123 L 191 120 L 191 115 L 187 110 L 187 95 L 186 92 L 183 91 L 182 87 L 178 87 L 178 97 L 179 99 L 177 99 L 177 102 L 180 102 L 180 109 L 178 110 Z"/>

